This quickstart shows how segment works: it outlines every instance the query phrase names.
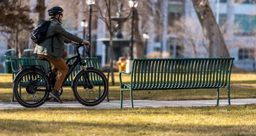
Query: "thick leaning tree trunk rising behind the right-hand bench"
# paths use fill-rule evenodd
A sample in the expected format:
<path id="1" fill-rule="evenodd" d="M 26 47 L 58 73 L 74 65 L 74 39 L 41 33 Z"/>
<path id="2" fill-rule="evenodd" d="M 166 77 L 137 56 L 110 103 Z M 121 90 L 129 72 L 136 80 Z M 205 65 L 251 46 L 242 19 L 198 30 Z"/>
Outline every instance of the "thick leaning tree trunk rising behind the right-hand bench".
<path id="1" fill-rule="evenodd" d="M 192 0 L 192 2 L 209 44 L 209 57 L 230 57 L 208 0 Z"/>

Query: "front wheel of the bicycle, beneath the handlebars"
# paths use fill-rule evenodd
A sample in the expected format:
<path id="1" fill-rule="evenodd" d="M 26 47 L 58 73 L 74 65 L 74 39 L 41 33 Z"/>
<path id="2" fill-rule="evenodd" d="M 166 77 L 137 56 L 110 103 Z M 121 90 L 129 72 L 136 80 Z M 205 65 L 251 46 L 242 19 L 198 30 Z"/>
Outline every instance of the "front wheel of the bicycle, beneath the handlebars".
<path id="1" fill-rule="evenodd" d="M 87 75 L 89 81 L 87 79 Z M 108 94 L 108 81 L 103 72 L 95 68 L 81 70 L 73 80 L 73 93 L 82 105 L 95 106 L 101 103 Z"/>

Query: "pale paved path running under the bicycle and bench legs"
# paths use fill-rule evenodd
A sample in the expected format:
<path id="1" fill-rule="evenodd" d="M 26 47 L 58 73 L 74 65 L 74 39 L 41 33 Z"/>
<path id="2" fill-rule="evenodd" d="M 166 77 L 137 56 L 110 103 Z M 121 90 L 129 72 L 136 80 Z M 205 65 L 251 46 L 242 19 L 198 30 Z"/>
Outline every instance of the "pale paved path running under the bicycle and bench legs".
<path id="1" fill-rule="evenodd" d="M 256 99 L 233 99 L 231 105 L 244 105 L 244 104 L 256 104 Z M 41 105 L 39 108 L 93 108 L 93 109 L 105 109 L 105 108 L 119 108 L 120 101 L 112 100 L 110 102 L 102 102 L 99 105 L 93 107 L 87 107 L 81 105 L 78 102 L 64 102 L 59 104 L 56 102 L 47 102 Z M 216 100 L 186 100 L 186 101 L 156 101 L 156 100 L 134 100 L 135 108 L 144 107 L 164 107 L 164 106 L 215 106 Z M 228 105 L 227 100 L 220 100 L 219 105 Z M 0 109 L 13 109 L 24 108 L 19 103 L 0 103 Z M 123 102 L 123 108 L 131 108 L 129 100 Z"/>

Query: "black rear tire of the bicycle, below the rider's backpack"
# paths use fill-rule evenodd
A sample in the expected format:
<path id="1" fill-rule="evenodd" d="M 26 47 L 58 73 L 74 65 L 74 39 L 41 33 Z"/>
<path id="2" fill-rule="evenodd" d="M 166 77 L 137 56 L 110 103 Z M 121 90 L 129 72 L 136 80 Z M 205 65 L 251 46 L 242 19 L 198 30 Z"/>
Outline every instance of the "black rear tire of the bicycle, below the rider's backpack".
<path id="1" fill-rule="evenodd" d="M 15 82 L 13 83 L 13 92 L 14 92 L 15 99 L 17 100 L 17 102 L 20 105 L 22 105 L 23 107 L 26 107 L 26 108 L 36 108 L 36 107 L 43 105 L 44 102 L 46 101 L 47 97 L 49 96 L 49 92 L 46 91 L 44 93 L 44 97 L 41 100 L 39 100 L 37 103 L 26 103 L 24 100 L 22 100 L 22 98 L 20 98 L 20 95 L 18 93 L 18 85 L 19 85 L 20 80 L 23 78 L 24 75 L 33 74 L 33 73 L 34 73 L 34 75 L 39 74 L 41 76 L 43 76 L 45 74 L 45 72 L 43 72 L 40 69 L 27 68 L 17 74 L 17 76 L 15 77 Z M 51 82 L 50 82 L 48 76 L 44 76 L 43 79 L 47 83 L 46 90 L 51 89 L 50 88 Z"/>

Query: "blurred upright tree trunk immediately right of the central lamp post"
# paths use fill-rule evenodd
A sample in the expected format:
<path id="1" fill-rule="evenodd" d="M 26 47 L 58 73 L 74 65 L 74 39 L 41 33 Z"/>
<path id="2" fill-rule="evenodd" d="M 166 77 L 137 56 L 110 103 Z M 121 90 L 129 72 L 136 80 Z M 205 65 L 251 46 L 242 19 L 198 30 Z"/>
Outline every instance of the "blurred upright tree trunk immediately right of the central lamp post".
<path id="1" fill-rule="evenodd" d="M 135 46 L 134 46 L 134 58 L 143 58 L 144 57 L 144 45 L 142 42 L 142 37 L 139 30 L 139 15 L 138 10 L 134 8 L 134 38 Z"/>

